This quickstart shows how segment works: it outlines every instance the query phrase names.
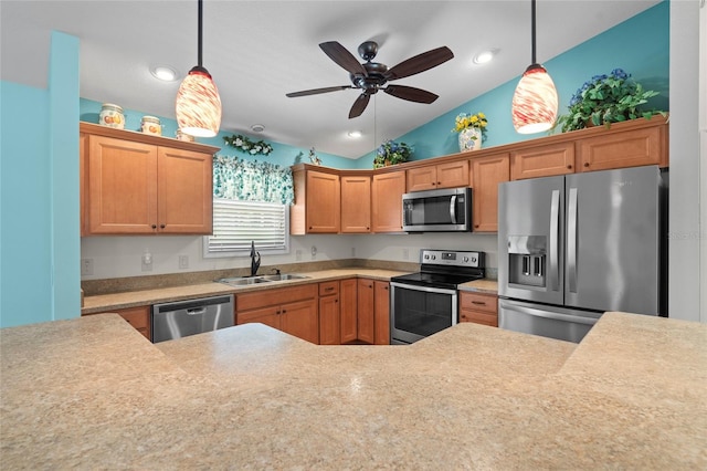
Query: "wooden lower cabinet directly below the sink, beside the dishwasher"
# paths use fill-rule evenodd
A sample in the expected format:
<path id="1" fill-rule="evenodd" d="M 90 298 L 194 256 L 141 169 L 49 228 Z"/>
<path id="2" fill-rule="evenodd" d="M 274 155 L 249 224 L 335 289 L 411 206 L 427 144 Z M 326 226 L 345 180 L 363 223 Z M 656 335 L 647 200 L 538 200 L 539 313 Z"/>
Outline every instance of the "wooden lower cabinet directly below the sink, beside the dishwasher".
<path id="1" fill-rule="evenodd" d="M 260 322 L 318 344 L 317 299 L 317 283 L 236 294 L 235 323 Z"/>

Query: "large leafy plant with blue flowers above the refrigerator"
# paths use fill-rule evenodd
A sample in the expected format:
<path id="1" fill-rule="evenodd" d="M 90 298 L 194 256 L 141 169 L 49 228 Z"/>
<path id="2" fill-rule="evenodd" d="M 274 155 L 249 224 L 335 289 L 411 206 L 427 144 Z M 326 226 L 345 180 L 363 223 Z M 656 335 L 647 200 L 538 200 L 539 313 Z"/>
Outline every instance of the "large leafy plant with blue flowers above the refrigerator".
<path id="1" fill-rule="evenodd" d="M 569 114 L 558 118 L 556 126 L 561 126 L 562 133 L 620 123 L 627 119 L 644 117 L 650 119 L 655 114 L 665 116 L 665 112 L 642 109 L 648 98 L 658 92 L 644 90 L 631 78 L 631 74 L 623 69 L 614 69 L 609 75 L 594 75 L 572 95 Z"/>

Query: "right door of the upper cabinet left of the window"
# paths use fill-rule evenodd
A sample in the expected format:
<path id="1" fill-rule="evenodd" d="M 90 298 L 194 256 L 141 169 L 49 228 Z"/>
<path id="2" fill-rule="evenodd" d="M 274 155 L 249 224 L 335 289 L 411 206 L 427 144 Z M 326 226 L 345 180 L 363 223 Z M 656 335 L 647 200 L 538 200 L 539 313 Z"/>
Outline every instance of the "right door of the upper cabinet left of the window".
<path id="1" fill-rule="evenodd" d="M 212 157 L 158 147 L 157 176 L 159 232 L 212 233 Z"/>

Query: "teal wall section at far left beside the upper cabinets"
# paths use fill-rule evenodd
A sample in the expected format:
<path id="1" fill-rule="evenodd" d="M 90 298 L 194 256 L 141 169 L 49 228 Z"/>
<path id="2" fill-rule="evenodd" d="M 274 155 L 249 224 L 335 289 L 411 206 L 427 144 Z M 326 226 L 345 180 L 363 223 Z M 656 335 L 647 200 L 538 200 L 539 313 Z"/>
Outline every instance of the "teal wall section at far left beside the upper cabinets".
<path id="1" fill-rule="evenodd" d="M 49 90 L 0 83 L 0 326 L 76 317 L 78 41 L 52 33 Z"/>

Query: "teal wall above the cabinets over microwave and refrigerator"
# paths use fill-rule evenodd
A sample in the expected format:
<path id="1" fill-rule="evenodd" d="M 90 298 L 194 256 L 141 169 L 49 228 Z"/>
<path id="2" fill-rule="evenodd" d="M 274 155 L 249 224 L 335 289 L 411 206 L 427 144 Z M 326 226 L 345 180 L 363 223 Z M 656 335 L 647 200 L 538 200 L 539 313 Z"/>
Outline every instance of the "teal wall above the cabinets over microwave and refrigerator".
<path id="1" fill-rule="evenodd" d="M 457 134 L 452 133 L 460 113 L 484 112 L 488 117 L 488 133 L 484 147 L 498 146 L 542 137 L 546 133 L 517 134 L 510 118 L 510 102 L 520 74 L 528 63 L 518 64 L 519 75 L 496 88 L 445 113 L 435 119 L 399 136 L 394 140 L 413 146 L 412 160 L 458 153 Z M 560 98 L 559 114 L 567 112 L 570 98 L 593 75 L 609 74 L 623 69 L 646 90 L 661 95 L 650 105 L 668 109 L 669 80 L 669 2 L 633 17 L 623 23 L 583 42 L 544 63 Z M 559 132 L 559 129 L 557 130 Z M 373 154 L 358 159 L 359 168 L 371 168 Z"/>

